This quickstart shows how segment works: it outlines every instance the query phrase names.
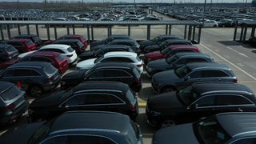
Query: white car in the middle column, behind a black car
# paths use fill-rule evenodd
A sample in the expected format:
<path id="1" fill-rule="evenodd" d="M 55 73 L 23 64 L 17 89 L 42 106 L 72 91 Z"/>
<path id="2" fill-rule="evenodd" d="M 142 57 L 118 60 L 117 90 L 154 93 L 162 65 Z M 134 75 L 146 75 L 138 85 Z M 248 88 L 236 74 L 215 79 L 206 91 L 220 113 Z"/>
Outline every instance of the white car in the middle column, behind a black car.
<path id="1" fill-rule="evenodd" d="M 99 58 L 86 59 L 84 61 L 78 62 L 76 70 L 89 70 L 96 63 L 100 62 L 130 62 L 138 67 L 138 70 L 141 74 L 143 72 L 142 59 L 139 58 L 136 53 L 127 51 L 113 51 L 108 52 Z"/>

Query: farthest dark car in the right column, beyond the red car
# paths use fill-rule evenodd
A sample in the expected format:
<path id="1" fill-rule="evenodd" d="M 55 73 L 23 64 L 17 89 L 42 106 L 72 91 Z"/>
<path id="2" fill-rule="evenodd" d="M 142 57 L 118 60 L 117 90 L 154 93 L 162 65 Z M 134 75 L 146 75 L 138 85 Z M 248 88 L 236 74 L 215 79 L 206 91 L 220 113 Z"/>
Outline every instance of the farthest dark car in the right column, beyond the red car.
<path id="1" fill-rule="evenodd" d="M 139 48 L 143 52 L 144 48 L 146 46 L 159 45 L 159 44 L 161 44 L 162 42 L 164 42 L 167 39 L 180 39 L 180 38 L 178 37 L 178 35 L 174 35 L 174 34 L 161 34 L 161 35 L 158 35 L 157 37 L 155 37 L 153 39 L 139 42 L 138 44 L 140 45 Z"/>

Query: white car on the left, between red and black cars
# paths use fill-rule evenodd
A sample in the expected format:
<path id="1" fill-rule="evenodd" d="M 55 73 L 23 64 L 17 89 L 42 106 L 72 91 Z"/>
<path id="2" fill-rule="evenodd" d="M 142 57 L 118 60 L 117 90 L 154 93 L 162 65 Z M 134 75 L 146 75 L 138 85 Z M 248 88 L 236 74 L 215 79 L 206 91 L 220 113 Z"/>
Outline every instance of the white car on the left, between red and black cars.
<path id="1" fill-rule="evenodd" d="M 38 51 L 55 51 L 62 54 L 69 64 L 72 64 L 78 60 L 78 55 L 75 50 L 69 45 L 63 44 L 50 44 L 42 46 Z"/>

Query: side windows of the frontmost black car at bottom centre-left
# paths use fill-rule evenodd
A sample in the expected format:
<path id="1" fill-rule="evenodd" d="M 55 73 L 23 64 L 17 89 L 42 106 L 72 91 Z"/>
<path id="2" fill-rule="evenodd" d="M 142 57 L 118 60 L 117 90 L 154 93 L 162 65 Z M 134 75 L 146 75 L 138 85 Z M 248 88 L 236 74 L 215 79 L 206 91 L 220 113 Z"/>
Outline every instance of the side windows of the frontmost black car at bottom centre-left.
<path id="1" fill-rule="evenodd" d="M 77 143 L 88 143 L 88 144 L 115 144 L 109 138 L 96 136 L 96 135 L 64 135 L 48 138 L 41 144 L 52 144 L 52 143 L 66 143 L 66 144 L 77 144 Z"/>

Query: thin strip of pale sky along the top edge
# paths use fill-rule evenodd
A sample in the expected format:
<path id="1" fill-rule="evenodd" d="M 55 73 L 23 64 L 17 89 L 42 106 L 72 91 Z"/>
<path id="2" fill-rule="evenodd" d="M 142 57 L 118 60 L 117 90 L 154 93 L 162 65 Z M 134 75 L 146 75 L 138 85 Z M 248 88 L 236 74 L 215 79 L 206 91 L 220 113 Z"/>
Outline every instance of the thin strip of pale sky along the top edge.
<path id="1" fill-rule="evenodd" d="M 45 0 L 0 0 L 0 2 L 44 2 Z M 63 1 L 63 0 L 46 0 L 46 1 Z M 170 2 L 174 3 L 175 2 L 193 2 L 193 3 L 204 3 L 205 0 L 64 0 L 64 1 L 70 1 L 70 2 Z M 242 2 L 242 3 L 251 3 L 252 0 L 206 0 L 206 3 L 222 3 L 222 2 L 229 2 L 229 3 L 234 3 L 234 2 Z"/>

